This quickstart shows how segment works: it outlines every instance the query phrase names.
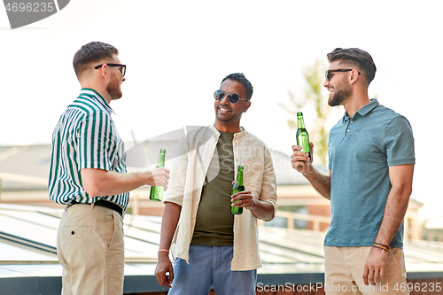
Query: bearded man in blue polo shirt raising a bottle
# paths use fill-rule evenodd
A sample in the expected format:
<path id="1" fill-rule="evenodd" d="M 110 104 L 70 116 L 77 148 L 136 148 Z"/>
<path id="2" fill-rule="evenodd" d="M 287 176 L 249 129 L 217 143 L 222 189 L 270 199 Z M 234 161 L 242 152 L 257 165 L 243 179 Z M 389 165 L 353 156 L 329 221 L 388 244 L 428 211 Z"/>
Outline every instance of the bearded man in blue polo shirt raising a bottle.
<path id="1" fill-rule="evenodd" d="M 415 164 L 412 129 L 405 117 L 369 99 L 376 66 L 368 52 L 337 48 L 327 57 L 328 104 L 346 110 L 330 130 L 329 175 L 312 167 L 300 146 L 291 155 L 292 167 L 330 199 L 325 291 L 408 294 L 402 222 Z"/>

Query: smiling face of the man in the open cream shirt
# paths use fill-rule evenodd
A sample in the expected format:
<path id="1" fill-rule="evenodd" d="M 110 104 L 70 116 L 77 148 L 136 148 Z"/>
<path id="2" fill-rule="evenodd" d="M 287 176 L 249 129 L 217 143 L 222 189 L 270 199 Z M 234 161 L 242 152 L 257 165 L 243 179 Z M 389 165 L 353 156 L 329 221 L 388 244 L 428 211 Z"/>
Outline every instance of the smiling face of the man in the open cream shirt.
<path id="1" fill-rule="evenodd" d="M 246 97 L 245 86 L 235 80 L 225 80 L 221 83 L 220 89 L 226 92 L 236 92 L 241 98 Z M 240 131 L 240 119 L 250 105 L 251 102 L 245 100 L 231 104 L 226 95 L 221 100 L 215 100 L 215 128 L 219 131 L 232 133 Z"/>

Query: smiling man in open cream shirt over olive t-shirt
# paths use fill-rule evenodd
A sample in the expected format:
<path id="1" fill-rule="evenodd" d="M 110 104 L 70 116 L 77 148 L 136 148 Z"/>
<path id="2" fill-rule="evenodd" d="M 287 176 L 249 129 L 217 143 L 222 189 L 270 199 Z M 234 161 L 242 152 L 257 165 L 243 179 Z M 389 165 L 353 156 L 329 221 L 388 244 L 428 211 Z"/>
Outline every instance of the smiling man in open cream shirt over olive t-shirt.
<path id="1" fill-rule="evenodd" d="M 240 126 L 252 95 L 245 75 L 229 74 L 214 93 L 214 125 L 177 145 L 155 270 L 160 285 L 172 283 L 168 294 L 206 295 L 211 285 L 218 295 L 255 294 L 257 219 L 276 214 L 276 175 L 266 145 Z M 245 167 L 245 191 L 231 196 L 238 166 Z M 232 215 L 231 202 L 244 212 Z"/>

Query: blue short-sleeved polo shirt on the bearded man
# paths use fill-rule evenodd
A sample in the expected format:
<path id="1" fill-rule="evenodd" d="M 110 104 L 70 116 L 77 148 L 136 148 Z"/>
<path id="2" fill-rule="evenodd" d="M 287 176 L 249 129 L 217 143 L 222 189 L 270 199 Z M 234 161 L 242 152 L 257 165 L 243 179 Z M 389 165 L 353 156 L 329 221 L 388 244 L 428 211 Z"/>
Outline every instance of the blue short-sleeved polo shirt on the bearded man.
<path id="1" fill-rule="evenodd" d="M 330 130 L 330 228 L 327 246 L 372 246 L 392 188 L 389 167 L 415 163 L 408 120 L 376 98 Z M 391 246 L 403 246 L 403 225 Z"/>

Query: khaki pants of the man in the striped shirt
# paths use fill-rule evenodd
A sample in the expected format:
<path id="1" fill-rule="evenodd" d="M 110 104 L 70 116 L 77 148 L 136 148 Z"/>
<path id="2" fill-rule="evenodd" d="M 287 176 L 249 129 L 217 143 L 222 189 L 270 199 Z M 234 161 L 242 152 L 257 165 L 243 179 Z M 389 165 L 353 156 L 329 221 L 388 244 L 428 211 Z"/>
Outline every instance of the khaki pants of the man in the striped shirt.
<path id="1" fill-rule="evenodd" d="M 121 295 L 123 220 L 112 209 L 74 205 L 62 215 L 57 237 L 62 295 Z"/>

